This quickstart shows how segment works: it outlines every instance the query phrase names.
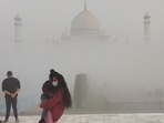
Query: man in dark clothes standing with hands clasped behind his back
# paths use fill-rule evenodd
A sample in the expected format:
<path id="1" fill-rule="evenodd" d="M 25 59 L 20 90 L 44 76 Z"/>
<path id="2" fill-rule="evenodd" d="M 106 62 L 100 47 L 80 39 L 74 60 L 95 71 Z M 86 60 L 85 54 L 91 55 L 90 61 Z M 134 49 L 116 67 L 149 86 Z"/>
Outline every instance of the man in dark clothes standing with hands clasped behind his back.
<path id="1" fill-rule="evenodd" d="M 12 76 L 11 71 L 7 72 L 7 76 L 8 78 L 2 81 L 2 91 L 4 92 L 6 106 L 7 106 L 6 120 L 3 121 L 3 123 L 8 122 L 11 105 L 16 117 L 16 122 L 18 123 L 19 119 L 17 111 L 17 96 L 20 91 L 20 81 Z"/>

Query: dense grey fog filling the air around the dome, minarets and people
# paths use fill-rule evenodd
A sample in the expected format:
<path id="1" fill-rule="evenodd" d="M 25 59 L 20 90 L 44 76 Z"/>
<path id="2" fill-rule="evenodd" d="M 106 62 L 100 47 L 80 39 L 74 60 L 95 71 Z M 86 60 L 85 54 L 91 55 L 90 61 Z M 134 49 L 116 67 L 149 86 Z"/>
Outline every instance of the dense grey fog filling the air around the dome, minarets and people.
<path id="1" fill-rule="evenodd" d="M 84 9 L 83 0 L 1 0 L 0 80 L 11 70 L 21 81 L 20 111 L 39 103 L 41 85 L 52 68 L 64 75 L 72 98 L 75 75 L 86 74 L 88 96 L 83 106 L 103 105 L 104 100 L 157 102 L 154 92 L 163 92 L 164 86 L 163 3 L 86 0 L 88 10 L 99 19 L 111 41 L 61 42 L 63 31 L 70 30 L 73 18 Z M 151 16 L 150 41 L 143 40 L 146 11 Z M 18 13 L 22 19 L 22 42 L 16 43 Z"/>

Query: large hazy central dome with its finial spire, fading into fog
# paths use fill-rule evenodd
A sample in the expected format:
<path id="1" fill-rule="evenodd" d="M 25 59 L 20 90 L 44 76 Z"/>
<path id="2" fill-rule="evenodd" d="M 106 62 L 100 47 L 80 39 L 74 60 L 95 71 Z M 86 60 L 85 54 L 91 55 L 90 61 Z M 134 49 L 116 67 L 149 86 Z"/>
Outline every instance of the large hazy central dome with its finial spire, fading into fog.
<path id="1" fill-rule="evenodd" d="M 71 22 L 71 30 L 61 35 L 62 41 L 109 41 L 109 35 L 101 29 L 98 18 L 86 9 L 80 12 Z"/>

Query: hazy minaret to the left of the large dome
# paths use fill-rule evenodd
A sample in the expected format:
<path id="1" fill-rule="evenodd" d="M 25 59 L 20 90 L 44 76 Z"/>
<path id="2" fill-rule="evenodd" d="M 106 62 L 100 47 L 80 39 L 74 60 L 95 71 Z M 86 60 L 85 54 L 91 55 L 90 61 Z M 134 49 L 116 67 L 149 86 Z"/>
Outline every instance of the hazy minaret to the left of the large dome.
<path id="1" fill-rule="evenodd" d="M 14 27 L 16 27 L 16 30 L 14 30 L 14 42 L 21 42 L 22 39 L 21 39 L 21 18 L 19 17 L 19 14 L 16 16 L 14 18 Z"/>

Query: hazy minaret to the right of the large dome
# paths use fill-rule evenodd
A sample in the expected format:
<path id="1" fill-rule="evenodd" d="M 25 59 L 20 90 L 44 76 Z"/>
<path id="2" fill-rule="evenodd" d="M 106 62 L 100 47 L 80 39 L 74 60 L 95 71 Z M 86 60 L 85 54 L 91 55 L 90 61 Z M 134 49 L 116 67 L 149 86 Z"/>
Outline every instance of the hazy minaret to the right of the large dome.
<path id="1" fill-rule="evenodd" d="M 147 40 L 151 40 L 151 34 L 150 34 L 151 16 L 146 12 L 143 18 L 144 18 L 144 22 L 143 22 L 144 23 L 144 40 L 147 41 Z"/>

